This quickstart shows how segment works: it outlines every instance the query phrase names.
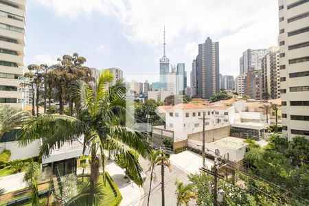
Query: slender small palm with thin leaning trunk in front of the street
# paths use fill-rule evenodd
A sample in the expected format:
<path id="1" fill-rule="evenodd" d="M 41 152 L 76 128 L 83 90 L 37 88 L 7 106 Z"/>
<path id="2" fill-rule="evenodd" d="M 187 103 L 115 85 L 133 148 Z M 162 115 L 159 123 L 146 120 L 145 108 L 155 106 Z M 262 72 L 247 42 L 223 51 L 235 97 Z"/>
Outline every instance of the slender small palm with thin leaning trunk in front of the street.
<path id="1" fill-rule="evenodd" d="M 163 167 L 167 167 L 170 169 L 171 165 L 168 156 L 165 155 L 163 150 L 152 150 L 152 152 L 150 152 L 148 156 L 148 161 L 149 161 L 148 171 L 150 172 L 150 185 L 149 185 L 147 205 L 149 206 L 152 179 L 155 179 L 154 171 L 156 166 L 161 165 Z"/>

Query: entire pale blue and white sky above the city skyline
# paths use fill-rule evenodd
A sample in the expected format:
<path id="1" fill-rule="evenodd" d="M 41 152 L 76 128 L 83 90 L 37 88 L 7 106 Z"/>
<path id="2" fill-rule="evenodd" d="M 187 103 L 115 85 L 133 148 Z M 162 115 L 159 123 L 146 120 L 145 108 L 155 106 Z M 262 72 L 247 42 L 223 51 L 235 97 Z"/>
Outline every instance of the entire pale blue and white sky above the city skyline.
<path id="1" fill-rule="evenodd" d="M 128 79 L 159 80 L 159 58 L 185 63 L 198 44 L 219 42 L 220 73 L 239 73 L 246 49 L 277 45 L 277 0 L 27 0 L 25 64 L 52 65 L 78 52 L 86 65 L 119 67 Z M 187 82 L 190 82 L 188 79 Z"/>

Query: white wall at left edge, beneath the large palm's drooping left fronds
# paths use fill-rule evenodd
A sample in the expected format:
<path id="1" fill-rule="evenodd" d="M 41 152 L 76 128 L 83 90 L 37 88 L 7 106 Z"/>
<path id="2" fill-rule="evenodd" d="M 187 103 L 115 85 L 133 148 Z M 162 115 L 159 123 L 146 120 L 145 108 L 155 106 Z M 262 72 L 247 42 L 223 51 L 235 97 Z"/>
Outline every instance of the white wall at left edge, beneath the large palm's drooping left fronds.
<path id="1" fill-rule="evenodd" d="M 15 159 L 27 159 L 30 157 L 37 157 L 39 155 L 40 146 L 41 139 L 36 139 L 25 147 L 19 147 L 18 141 L 9 141 L 0 143 L 0 152 L 3 150 L 10 150 L 10 161 Z"/>

